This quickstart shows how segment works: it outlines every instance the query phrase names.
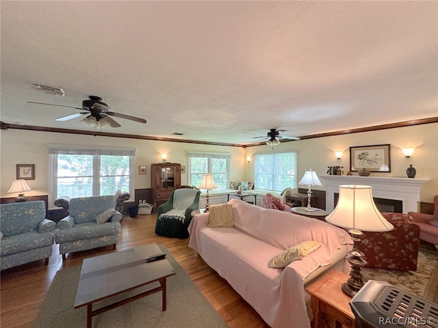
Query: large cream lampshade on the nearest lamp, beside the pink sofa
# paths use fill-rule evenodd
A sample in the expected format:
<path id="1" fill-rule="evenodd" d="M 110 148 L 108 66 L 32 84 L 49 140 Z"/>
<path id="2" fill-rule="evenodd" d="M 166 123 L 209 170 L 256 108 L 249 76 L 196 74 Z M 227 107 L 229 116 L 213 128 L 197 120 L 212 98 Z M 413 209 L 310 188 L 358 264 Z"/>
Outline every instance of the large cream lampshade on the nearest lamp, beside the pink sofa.
<path id="1" fill-rule="evenodd" d="M 378 211 L 372 199 L 371 186 L 343 184 L 339 186 L 339 200 L 326 221 L 346 229 L 361 231 L 389 231 L 394 226 Z"/>

